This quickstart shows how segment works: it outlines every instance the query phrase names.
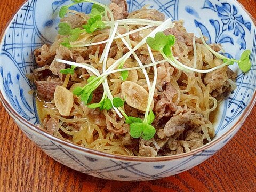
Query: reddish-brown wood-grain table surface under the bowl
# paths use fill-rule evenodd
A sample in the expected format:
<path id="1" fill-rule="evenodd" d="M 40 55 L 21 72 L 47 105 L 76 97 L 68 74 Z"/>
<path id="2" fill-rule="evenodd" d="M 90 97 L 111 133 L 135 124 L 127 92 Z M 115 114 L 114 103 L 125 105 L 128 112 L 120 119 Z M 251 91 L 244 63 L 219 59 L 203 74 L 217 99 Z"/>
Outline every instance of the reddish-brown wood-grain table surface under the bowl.
<path id="1" fill-rule="evenodd" d="M 1 0 L 0 33 L 24 0 Z M 256 1 L 240 0 L 256 18 Z M 94 178 L 55 162 L 28 140 L 0 103 L 0 191 L 255 191 L 256 107 L 235 137 L 193 169 L 149 182 Z"/>

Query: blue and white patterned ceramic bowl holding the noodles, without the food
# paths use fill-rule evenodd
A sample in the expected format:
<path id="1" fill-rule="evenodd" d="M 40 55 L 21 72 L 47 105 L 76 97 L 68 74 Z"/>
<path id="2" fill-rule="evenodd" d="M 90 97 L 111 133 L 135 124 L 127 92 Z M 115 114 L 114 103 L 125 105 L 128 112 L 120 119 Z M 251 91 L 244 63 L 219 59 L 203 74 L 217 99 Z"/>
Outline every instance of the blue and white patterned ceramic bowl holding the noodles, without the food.
<path id="1" fill-rule="evenodd" d="M 3 105 L 27 137 L 53 159 L 77 171 L 105 179 L 159 179 L 202 163 L 222 148 L 242 126 L 256 101 L 256 27 L 243 7 L 233 0 L 130 0 L 130 12 L 151 4 L 167 17 L 185 20 L 188 31 L 196 32 L 199 26 L 209 43 L 221 43 L 227 54 L 234 58 L 239 58 L 246 49 L 252 50 L 252 68 L 248 73 L 243 74 L 232 66 L 238 71 L 237 89 L 220 107 L 214 125 L 216 137 L 207 145 L 185 154 L 129 157 L 87 149 L 38 129 L 35 126 L 38 123 L 35 98 L 28 93 L 33 85 L 26 74 L 35 67 L 33 51 L 43 43 L 53 42 L 59 22 L 58 10 L 68 3 L 68 0 L 27 1 L 14 15 L 0 46 L 0 98 Z M 78 4 L 75 9 L 89 12 L 91 4 Z"/>

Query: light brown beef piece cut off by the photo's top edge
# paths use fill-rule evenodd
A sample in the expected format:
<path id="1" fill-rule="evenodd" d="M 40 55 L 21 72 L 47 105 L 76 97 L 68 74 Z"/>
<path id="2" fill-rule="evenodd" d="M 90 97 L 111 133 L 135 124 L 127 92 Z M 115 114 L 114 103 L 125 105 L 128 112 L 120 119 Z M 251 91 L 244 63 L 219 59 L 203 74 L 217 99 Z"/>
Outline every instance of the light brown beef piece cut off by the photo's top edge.
<path id="1" fill-rule="evenodd" d="M 109 5 L 109 9 L 112 11 L 114 20 L 125 19 L 128 16 L 127 2 L 126 0 L 113 0 L 113 3 Z"/>

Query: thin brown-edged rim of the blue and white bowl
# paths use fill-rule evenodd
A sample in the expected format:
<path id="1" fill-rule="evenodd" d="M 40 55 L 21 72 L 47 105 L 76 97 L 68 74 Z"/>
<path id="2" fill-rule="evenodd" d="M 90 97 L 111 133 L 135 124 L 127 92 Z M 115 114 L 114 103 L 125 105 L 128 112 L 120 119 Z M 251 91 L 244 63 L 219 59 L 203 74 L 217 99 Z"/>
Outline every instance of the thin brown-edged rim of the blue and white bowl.
<path id="1" fill-rule="evenodd" d="M 19 8 L 13 13 L 13 16 L 6 23 L 5 27 L 3 28 L 2 33 L 0 35 L 0 45 L 3 42 L 3 38 L 4 38 L 5 34 L 6 34 L 6 29 L 9 28 L 9 26 L 11 25 L 11 22 L 12 22 L 13 18 L 15 17 L 15 15 L 17 15 L 17 13 L 22 9 L 22 7 L 28 1 L 30 1 L 30 0 L 25 0 L 24 3 L 22 3 L 19 6 Z M 228 1 L 230 1 L 230 0 L 228 0 Z M 241 6 L 241 8 L 246 12 L 246 14 L 250 17 L 250 19 L 254 23 L 254 26 L 256 26 L 256 18 L 253 18 L 251 13 L 249 13 L 249 11 L 247 11 L 245 9 L 245 7 L 240 2 L 235 1 L 234 3 L 237 3 L 239 6 Z M 130 162 L 162 162 L 162 161 L 170 161 L 170 160 L 173 160 L 173 159 L 181 159 L 183 157 L 188 157 L 188 156 L 191 156 L 191 155 L 195 155 L 195 154 L 197 154 L 199 152 L 203 152 L 204 150 L 209 149 L 210 147 L 216 145 L 217 143 L 219 143 L 223 139 L 226 139 L 229 134 L 233 133 L 234 131 L 236 131 L 236 129 L 239 129 L 243 125 L 245 119 L 250 114 L 251 110 L 253 109 L 253 107 L 254 107 L 254 105 L 256 103 L 256 90 L 254 90 L 254 93 L 252 95 L 250 103 L 246 106 L 246 108 L 244 109 L 243 113 L 240 115 L 241 117 L 221 137 L 212 140 L 211 142 L 207 143 L 206 145 L 204 145 L 202 147 L 199 147 L 197 149 L 191 150 L 191 151 L 183 153 L 183 154 L 172 155 L 172 156 L 159 156 L 159 157 L 140 157 L 140 156 L 127 156 L 127 155 L 118 155 L 118 154 L 108 154 L 106 152 L 98 151 L 98 150 L 91 149 L 91 148 L 82 147 L 82 146 L 79 146 L 79 145 L 77 145 L 75 143 L 71 143 L 71 142 L 65 141 L 63 139 L 55 137 L 54 135 L 50 134 L 46 130 L 40 129 L 36 125 L 28 122 L 25 118 L 20 116 L 17 113 L 17 111 L 15 111 L 10 106 L 9 102 L 4 98 L 4 95 L 2 94 L 2 90 L 0 90 L 0 100 L 1 100 L 4 108 L 6 109 L 6 111 L 14 119 L 14 122 L 18 121 L 22 126 L 27 127 L 28 129 L 30 129 L 30 130 L 32 130 L 32 131 L 42 135 L 43 137 L 46 137 L 47 139 L 55 141 L 55 142 L 57 142 L 57 143 L 59 143 L 61 145 L 65 145 L 68 148 L 78 150 L 81 153 L 89 153 L 89 154 L 92 154 L 92 155 L 101 156 L 102 158 L 107 157 L 107 158 L 118 159 L 118 160 L 122 160 L 122 161 L 130 161 Z"/>

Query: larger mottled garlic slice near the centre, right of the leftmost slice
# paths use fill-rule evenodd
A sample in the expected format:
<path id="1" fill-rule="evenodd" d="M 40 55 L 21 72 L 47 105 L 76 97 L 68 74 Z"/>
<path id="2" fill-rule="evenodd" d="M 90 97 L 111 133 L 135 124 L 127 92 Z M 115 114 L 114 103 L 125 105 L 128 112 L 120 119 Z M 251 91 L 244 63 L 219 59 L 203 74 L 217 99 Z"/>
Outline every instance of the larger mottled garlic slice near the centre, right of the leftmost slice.
<path id="1" fill-rule="evenodd" d="M 125 81 L 121 85 L 121 92 L 129 106 L 146 111 L 149 94 L 142 86 L 131 81 Z M 150 107 L 151 109 L 154 108 L 154 102 L 151 103 Z"/>

